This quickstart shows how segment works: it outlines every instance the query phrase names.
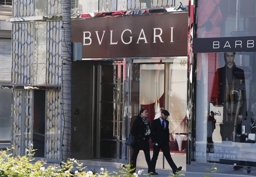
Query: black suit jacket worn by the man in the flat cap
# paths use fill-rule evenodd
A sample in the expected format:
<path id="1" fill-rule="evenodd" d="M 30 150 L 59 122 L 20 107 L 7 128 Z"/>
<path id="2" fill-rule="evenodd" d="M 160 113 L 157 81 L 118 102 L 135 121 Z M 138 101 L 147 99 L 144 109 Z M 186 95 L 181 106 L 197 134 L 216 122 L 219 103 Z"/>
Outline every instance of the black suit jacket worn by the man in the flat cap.
<path id="1" fill-rule="evenodd" d="M 162 127 L 160 118 L 153 120 L 151 123 L 151 141 L 152 143 L 158 143 L 160 145 L 169 144 L 169 122 L 166 120 L 166 128 Z"/>

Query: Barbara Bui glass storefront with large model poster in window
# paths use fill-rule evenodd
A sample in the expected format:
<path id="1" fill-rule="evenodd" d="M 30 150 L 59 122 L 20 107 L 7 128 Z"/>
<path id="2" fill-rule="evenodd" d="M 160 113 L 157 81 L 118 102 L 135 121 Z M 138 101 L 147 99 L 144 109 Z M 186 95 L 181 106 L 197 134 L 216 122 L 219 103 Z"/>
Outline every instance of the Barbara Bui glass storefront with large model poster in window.
<path id="1" fill-rule="evenodd" d="M 190 3 L 187 171 L 253 173 L 255 1 Z"/>

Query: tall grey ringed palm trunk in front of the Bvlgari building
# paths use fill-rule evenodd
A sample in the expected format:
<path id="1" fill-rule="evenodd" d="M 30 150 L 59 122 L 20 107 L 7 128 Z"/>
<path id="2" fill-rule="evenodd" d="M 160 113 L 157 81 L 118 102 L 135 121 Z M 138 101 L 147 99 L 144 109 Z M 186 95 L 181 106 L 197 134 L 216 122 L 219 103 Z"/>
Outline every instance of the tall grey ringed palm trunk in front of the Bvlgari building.
<path id="1" fill-rule="evenodd" d="M 62 0 L 62 161 L 71 155 L 71 0 Z"/>

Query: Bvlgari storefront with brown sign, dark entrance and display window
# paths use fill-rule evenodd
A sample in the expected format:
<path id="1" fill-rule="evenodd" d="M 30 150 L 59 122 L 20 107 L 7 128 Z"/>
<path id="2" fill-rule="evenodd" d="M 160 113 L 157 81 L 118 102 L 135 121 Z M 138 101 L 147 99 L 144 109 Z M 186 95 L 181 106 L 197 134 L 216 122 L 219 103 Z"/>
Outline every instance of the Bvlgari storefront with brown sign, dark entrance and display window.
<path id="1" fill-rule="evenodd" d="M 82 61 L 72 62 L 73 158 L 129 163 L 124 142 L 139 110 L 152 121 L 165 108 L 170 152 L 185 166 L 187 12 L 167 10 L 72 19 L 72 42 L 83 51 Z M 157 167 L 168 168 L 161 153 L 159 159 Z M 137 165 L 145 166 L 143 151 Z"/>

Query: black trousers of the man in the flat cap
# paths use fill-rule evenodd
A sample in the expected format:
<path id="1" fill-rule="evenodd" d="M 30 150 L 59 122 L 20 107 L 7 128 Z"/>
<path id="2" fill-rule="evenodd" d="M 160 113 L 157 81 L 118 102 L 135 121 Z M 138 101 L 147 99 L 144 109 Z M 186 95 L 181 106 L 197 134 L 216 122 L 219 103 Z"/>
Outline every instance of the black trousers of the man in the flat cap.
<path id="1" fill-rule="evenodd" d="M 172 171 L 177 169 L 177 166 L 173 162 L 173 159 L 172 159 L 171 154 L 170 154 L 169 144 L 164 144 L 164 145 L 158 144 L 158 145 L 153 146 L 153 157 L 151 159 L 151 165 L 152 165 L 151 166 L 151 171 L 155 172 L 155 164 L 156 164 L 156 160 L 158 158 L 160 149 L 162 150 L 168 164 L 171 166 Z"/>

